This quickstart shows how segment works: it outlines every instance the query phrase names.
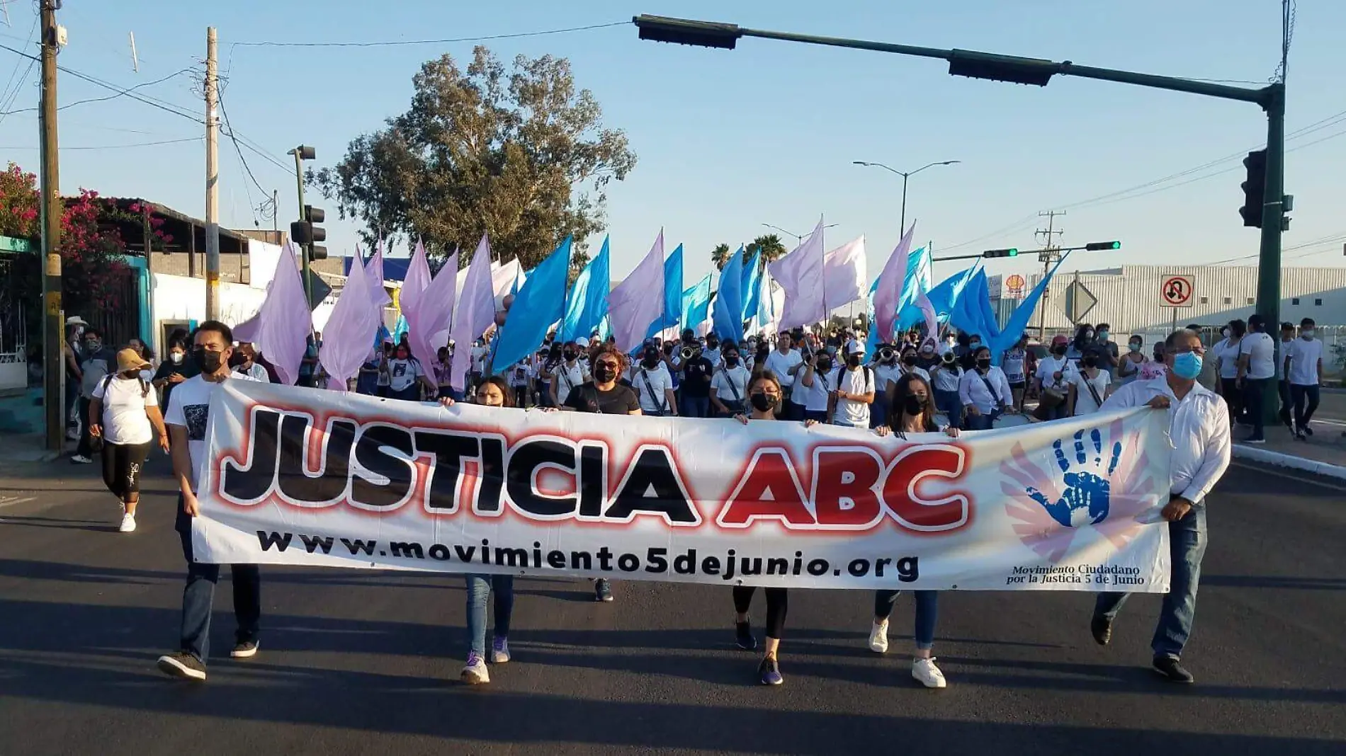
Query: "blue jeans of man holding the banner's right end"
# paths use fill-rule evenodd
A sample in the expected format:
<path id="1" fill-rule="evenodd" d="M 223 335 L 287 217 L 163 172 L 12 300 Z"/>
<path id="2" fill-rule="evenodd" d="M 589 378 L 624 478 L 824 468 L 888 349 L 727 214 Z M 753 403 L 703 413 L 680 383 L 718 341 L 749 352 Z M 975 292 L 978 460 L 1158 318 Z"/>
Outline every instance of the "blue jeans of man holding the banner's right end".
<path id="1" fill-rule="evenodd" d="M 1155 658 L 1182 656 L 1183 646 L 1191 636 L 1191 621 L 1197 615 L 1197 585 L 1201 582 L 1201 558 L 1206 554 L 1206 504 L 1195 506 L 1178 522 L 1168 523 L 1168 545 L 1172 578 L 1164 605 L 1159 611 L 1159 627 L 1149 647 Z M 1094 604 L 1094 617 L 1112 621 L 1129 593 L 1100 593 Z"/>

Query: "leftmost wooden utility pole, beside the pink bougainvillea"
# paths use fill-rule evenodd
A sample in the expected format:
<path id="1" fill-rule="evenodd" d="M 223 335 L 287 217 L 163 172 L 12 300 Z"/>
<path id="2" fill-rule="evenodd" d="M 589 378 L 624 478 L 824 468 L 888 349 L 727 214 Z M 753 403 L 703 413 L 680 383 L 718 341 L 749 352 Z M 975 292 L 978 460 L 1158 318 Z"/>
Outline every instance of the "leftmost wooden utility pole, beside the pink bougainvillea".
<path id="1" fill-rule="evenodd" d="M 66 448 L 65 391 L 61 344 L 61 155 L 57 140 L 57 0 L 42 3 L 42 404 L 46 416 L 48 452 Z"/>

